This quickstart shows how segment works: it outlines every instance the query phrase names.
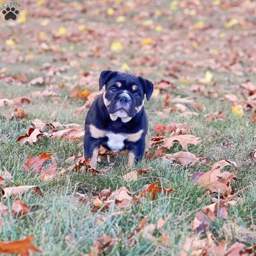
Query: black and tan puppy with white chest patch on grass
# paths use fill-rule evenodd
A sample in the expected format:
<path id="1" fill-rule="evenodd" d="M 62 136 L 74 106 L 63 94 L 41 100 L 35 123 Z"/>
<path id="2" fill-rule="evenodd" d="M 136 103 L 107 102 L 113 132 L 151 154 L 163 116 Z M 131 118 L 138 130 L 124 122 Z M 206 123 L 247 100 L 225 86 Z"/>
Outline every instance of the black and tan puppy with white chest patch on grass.
<path id="1" fill-rule="evenodd" d="M 105 92 L 92 104 L 85 119 L 84 157 L 95 168 L 100 145 L 110 150 L 129 150 L 130 166 L 145 151 L 148 117 L 143 104 L 153 92 L 151 81 L 131 73 L 105 70 L 99 77 L 99 90 Z"/>

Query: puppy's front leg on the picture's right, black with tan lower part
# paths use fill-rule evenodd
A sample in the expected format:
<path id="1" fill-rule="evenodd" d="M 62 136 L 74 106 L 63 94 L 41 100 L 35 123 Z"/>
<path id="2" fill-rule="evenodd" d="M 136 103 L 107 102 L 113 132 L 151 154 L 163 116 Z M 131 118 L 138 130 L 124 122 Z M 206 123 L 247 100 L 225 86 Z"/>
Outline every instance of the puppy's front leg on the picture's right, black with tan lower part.
<path id="1" fill-rule="evenodd" d="M 138 140 L 136 143 L 131 143 L 128 150 L 130 150 L 128 154 L 128 165 L 133 166 L 143 158 L 145 152 L 145 138 Z"/>

